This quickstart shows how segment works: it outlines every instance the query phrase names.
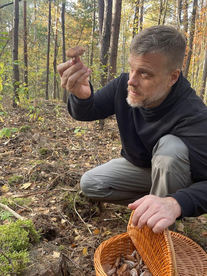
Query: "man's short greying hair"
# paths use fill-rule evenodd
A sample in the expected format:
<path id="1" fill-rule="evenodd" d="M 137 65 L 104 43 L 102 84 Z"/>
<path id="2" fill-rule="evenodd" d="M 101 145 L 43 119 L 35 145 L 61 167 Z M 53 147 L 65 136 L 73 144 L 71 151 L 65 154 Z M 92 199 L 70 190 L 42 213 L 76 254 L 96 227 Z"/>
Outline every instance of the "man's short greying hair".
<path id="1" fill-rule="evenodd" d="M 160 53 L 166 56 L 166 73 L 182 69 L 186 49 L 185 37 L 174 27 L 157 25 L 143 29 L 132 39 L 130 54 L 142 56 Z"/>

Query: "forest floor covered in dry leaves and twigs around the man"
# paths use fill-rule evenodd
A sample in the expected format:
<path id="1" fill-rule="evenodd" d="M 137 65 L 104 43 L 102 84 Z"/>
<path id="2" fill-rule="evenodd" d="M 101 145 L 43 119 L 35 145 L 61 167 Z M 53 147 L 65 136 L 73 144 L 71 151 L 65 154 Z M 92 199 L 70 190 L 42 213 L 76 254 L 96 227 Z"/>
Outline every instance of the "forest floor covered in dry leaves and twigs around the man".
<path id="1" fill-rule="evenodd" d="M 28 110 L 13 109 L 7 102 L 8 116 L 0 121 L 0 130 L 31 128 L 0 140 L 0 188 L 9 184 L 9 190 L 1 189 L 0 194 L 1 198 L 21 196 L 26 209 L 13 209 L 42 229 L 40 242 L 31 245 L 31 263 L 22 275 L 43 274 L 57 265 L 59 253 L 69 275 L 95 275 L 95 250 L 106 239 L 127 231 L 131 210 L 87 199 L 79 181 L 87 170 L 120 157 L 118 127 L 115 118 L 106 119 L 100 130 L 96 122 L 73 120 L 62 102 L 53 104 L 60 105 L 55 106 L 56 116 L 52 102 L 43 101 L 39 116 L 44 121 L 32 124 Z M 45 190 L 49 192 L 43 193 Z M 3 223 L 7 221 L 1 220 Z M 207 252 L 207 215 L 185 218 L 177 226 L 179 233 Z"/>

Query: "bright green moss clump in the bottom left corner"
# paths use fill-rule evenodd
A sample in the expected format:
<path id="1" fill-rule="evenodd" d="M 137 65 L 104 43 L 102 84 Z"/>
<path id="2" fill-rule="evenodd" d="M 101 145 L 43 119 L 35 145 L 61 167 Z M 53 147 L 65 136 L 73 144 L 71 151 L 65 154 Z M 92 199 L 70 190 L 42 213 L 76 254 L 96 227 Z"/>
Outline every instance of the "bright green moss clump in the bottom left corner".
<path id="1" fill-rule="evenodd" d="M 0 248 L 7 257 L 11 258 L 14 272 L 20 274 L 20 270 L 25 269 L 29 262 L 27 251 L 29 242 L 39 241 L 39 233 L 31 220 L 17 220 L 11 224 L 1 225 L 0 233 Z M 0 274 L 6 276 L 10 273 L 12 273 L 11 264 L 0 254 Z"/>

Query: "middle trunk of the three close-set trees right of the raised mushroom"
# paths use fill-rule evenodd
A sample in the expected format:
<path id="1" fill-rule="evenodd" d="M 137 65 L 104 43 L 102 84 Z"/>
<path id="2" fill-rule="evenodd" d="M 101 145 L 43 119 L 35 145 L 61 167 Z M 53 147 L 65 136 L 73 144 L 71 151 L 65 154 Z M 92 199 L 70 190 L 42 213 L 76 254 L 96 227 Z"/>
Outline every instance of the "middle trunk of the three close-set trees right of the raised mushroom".
<path id="1" fill-rule="evenodd" d="M 108 72 L 108 50 L 111 37 L 112 22 L 112 0 L 104 0 L 103 30 L 100 42 L 100 61 L 103 73 L 101 73 L 101 85 L 104 86 L 107 81 Z M 99 28 L 100 29 L 100 28 Z"/>

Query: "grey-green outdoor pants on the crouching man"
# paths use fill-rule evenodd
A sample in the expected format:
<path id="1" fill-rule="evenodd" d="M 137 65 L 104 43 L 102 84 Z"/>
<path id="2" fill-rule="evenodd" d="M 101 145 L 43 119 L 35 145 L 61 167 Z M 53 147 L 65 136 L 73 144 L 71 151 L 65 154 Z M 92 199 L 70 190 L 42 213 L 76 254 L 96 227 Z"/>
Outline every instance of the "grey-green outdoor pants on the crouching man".
<path id="1" fill-rule="evenodd" d="M 86 172 L 82 192 L 89 198 L 128 205 L 145 195 L 165 197 L 191 184 L 189 150 L 173 135 L 163 136 L 152 152 L 152 168 L 113 159 Z"/>

